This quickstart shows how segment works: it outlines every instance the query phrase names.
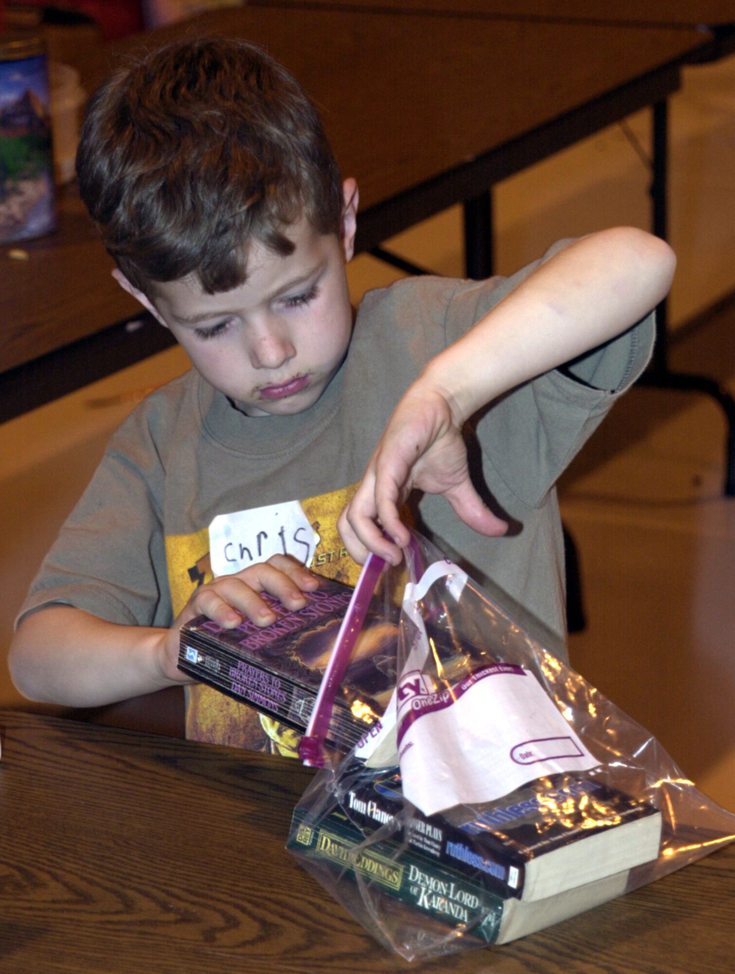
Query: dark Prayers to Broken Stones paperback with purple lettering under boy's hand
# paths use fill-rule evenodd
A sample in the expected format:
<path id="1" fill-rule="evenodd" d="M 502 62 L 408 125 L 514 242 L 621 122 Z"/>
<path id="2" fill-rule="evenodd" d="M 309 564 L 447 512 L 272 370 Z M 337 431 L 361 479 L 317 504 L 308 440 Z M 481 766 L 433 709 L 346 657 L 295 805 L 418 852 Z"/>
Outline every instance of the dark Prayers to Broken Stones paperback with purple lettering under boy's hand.
<path id="1" fill-rule="evenodd" d="M 295 731 L 308 724 L 352 589 L 323 579 L 292 612 L 267 594 L 277 619 L 225 629 L 204 616 L 182 627 L 179 669 Z M 337 694 L 328 741 L 349 750 L 383 713 L 396 680 L 397 621 L 368 613 Z"/>

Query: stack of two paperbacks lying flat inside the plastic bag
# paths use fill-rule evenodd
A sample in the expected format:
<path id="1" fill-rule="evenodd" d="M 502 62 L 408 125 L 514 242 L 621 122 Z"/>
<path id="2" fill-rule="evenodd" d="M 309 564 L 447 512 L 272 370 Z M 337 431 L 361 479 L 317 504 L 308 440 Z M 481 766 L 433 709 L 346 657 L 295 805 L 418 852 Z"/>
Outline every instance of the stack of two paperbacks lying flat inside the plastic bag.
<path id="1" fill-rule="evenodd" d="M 422 924 L 505 944 L 621 895 L 631 870 L 658 857 L 661 813 L 593 772 L 539 778 L 462 822 L 468 809 L 402 813 L 396 768 L 357 771 L 318 821 L 296 809 L 288 847 L 317 876 L 354 883 L 357 872 L 373 914 L 388 897 Z"/>

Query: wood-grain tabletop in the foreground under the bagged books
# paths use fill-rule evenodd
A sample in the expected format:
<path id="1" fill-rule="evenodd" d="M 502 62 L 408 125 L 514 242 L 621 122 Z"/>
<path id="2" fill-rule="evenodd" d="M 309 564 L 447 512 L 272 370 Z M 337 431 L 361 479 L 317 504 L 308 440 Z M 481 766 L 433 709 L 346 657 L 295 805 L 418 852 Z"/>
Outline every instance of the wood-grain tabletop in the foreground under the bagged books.
<path id="1" fill-rule="evenodd" d="M 3 974 L 724 974 L 735 846 L 516 941 L 408 965 L 285 851 L 311 772 L 0 712 Z"/>

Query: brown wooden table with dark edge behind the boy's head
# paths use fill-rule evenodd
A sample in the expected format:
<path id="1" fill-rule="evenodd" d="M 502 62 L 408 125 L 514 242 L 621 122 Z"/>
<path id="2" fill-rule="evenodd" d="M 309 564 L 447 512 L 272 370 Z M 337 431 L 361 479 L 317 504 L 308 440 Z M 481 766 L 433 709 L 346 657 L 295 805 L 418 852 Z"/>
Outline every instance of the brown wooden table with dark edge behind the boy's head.
<path id="1" fill-rule="evenodd" d="M 682 62 L 709 43 L 688 29 L 290 5 L 214 11 L 143 39 L 207 31 L 262 44 L 316 100 L 343 172 L 361 186 L 361 250 L 660 102 L 679 87 Z M 112 46 L 108 64 L 140 43 Z M 111 280 L 85 221 L 66 192 L 58 232 L 23 244 L 28 260 L 0 247 L 0 421 L 168 341 Z M 475 236 L 481 244 L 486 227 Z M 147 323 L 116 325 L 129 316 Z"/>

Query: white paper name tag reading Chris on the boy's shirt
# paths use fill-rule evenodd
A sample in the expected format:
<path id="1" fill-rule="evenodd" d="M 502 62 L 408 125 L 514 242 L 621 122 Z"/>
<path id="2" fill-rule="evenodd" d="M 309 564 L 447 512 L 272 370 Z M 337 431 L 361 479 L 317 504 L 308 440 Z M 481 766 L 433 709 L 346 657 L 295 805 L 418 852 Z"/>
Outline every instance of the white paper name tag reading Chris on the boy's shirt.
<path id="1" fill-rule="evenodd" d="M 209 525 L 212 572 L 233 575 L 274 554 L 290 554 L 308 568 L 319 540 L 298 501 L 218 514 Z"/>

